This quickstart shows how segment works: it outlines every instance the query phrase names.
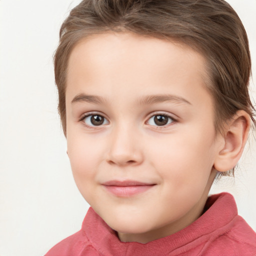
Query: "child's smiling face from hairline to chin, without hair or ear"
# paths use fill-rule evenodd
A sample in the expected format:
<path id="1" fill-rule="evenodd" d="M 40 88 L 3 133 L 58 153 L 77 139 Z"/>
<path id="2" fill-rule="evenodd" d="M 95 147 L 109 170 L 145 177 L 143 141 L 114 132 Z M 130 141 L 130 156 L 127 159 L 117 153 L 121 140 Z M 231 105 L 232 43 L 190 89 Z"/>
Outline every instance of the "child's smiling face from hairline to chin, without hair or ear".
<path id="1" fill-rule="evenodd" d="M 122 241 L 169 235 L 202 212 L 223 146 L 205 66 L 187 46 L 132 33 L 95 35 L 71 52 L 73 176 Z"/>

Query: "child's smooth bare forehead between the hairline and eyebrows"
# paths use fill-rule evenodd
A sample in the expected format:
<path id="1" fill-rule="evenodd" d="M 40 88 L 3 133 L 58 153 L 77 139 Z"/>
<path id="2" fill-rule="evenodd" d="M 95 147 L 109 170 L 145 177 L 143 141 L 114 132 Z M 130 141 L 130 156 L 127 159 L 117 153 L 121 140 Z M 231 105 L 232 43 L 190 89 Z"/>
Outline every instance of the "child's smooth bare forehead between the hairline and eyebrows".
<path id="1" fill-rule="evenodd" d="M 82 39 L 70 54 L 66 96 L 84 90 L 102 90 L 105 96 L 119 90 L 154 94 L 171 88 L 179 93 L 182 86 L 189 96 L 194 86 L 206 88 L 205 66 L 200 53 L 176 41 L 128 32 L 95 34 Z"/>

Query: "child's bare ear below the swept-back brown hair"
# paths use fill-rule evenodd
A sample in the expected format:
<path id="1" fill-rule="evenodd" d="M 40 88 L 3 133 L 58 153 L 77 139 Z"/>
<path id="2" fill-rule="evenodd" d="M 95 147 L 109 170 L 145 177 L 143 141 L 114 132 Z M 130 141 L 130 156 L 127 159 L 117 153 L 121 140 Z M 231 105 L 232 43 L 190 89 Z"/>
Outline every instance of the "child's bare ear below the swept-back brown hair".
<path id="1" fill-rule="evenodd" d="M 224 146 L 219 150 L 213 167 L 218 171 L 232 169 L 241 157 L 250 129 L 250 116 L 239 110 L 228 120 L 221 135 Z"/>

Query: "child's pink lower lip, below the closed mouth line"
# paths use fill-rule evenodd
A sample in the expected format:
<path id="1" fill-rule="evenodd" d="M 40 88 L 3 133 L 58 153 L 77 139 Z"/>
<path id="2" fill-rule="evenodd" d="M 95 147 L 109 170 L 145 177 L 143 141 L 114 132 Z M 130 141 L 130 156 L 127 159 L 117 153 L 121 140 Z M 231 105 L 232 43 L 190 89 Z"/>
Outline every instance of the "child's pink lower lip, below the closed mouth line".
<path id="1" fill-rule="evenodd" d="M 104 185 L 104 187 L 112 194 L 120 197 L 129 197 L 132 195 L 136 195 L 139 193 L 143 193 L 154 185 L 137 185 L 137 186 L 108 186 Z"/>

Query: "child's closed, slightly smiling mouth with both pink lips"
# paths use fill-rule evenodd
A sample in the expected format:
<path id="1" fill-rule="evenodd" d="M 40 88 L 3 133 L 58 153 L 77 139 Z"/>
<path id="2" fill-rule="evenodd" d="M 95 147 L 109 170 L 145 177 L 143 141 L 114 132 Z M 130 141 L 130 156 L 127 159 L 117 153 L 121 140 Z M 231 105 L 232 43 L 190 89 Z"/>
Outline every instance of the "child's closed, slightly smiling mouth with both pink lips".
<path id="1" fill-rule="evenodd" d="M 109 180 L 102 183 L 102 185 L 108 192 L 115 196 L 130 197 L 143 193 L 156 184 L 144 183 L 136 180 Z"/>

